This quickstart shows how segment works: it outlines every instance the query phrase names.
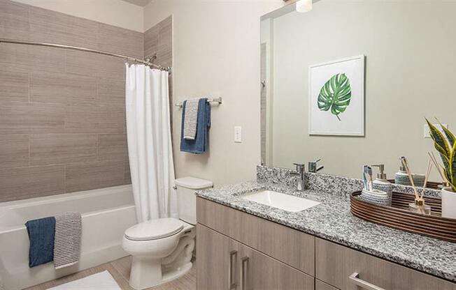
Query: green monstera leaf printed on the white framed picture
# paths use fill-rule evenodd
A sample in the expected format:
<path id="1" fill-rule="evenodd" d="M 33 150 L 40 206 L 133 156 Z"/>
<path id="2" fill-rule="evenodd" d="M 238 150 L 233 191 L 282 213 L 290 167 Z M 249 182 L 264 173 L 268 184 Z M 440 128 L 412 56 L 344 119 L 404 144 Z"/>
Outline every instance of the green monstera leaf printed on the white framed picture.
<path id="1" fill-rule="evenodd" d="M 339 114 L 345 112 L 350 99 L 352 98 L 352 88 L 350 79 L 345 73 L 338 73 L 329 79 L 320 90 L 318 95 L 318 109 L 329 111 L 341 121 Z"/>

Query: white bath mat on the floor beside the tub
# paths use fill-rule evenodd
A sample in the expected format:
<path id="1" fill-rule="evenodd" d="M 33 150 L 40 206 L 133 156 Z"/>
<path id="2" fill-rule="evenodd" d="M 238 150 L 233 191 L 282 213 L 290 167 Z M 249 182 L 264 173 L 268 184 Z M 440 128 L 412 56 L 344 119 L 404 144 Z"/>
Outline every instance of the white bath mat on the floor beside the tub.
<path id="1" fill-rule="evenodd" d="M 101 273 L 68 282 L 48 290 L 122 290 L 113 276 L 106 270 Z"/>

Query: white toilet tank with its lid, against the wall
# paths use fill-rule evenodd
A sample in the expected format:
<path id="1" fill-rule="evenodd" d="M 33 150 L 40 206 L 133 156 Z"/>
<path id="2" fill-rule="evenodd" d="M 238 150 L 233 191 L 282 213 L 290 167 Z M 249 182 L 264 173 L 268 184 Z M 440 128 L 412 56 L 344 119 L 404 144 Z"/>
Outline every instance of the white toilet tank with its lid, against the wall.
<path id="1" fill-rule="evenodd" d="M 212 188 L 212 181 L 192 176 L 178 178 L 175 181 L 178 194 L 179 219 L 189 224 L 197 224 L 197 196 L 194 192 Z"/>

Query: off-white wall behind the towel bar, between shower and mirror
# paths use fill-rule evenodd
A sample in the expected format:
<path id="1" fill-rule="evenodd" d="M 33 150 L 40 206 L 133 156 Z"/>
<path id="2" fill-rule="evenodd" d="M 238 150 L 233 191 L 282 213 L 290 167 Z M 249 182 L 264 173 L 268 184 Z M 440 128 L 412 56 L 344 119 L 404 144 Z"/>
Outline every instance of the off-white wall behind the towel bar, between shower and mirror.
<path id="1" fill-rule="evenodd" d="M 259 17 L 283 0 L 154 0 L 144 28 L 173 15 L 173 98 L 222 96 L 213 107 L 210 152 L 180 153 L 181 110 L 173 107 L 176 176 L 197 176 L 215 185 L 255 178 L 260 162 Z M 243 143 L 234 143 L 241 125 Z"/>

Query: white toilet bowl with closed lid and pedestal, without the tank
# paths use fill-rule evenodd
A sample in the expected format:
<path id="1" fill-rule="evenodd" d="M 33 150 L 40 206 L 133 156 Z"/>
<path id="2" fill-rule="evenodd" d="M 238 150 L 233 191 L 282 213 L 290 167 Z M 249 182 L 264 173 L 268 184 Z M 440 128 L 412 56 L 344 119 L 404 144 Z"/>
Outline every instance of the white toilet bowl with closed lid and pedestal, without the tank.
<path id="1" fill-rule="evenodd" d="M 125 231 L 122 247 L 131 254 L 129 284 L 146 289 L 185 275 L 192 268 L 194 226 L 174 218 L 141 222 Z"/>

